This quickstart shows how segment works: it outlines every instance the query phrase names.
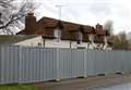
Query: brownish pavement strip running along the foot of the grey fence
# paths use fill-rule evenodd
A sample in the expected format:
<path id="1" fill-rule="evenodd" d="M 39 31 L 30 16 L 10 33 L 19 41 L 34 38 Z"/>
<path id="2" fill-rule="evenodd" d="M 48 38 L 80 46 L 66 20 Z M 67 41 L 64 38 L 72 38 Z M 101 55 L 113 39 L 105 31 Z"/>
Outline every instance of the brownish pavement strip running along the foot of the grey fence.
<path id="1" fill-rule="evenodd" d="M 100 87 L 109 87 L 128 82 L 131 82 L 131 74 L 88 76 L 87 78 L 63 79 L 60 81 L 38 82 L 35 85 L 39 90 L 97 90 L 97 88 Z"/>

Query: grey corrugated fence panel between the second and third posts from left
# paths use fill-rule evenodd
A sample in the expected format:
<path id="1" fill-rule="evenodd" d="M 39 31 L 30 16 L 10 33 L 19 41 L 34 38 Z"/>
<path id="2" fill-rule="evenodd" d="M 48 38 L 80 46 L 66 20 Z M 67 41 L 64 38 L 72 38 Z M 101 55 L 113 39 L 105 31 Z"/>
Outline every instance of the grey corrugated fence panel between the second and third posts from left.
<path id="1" fill-rule="evenodd" d="M 60 49 L 60 78 L 84 76 L 84 50 Z"/>

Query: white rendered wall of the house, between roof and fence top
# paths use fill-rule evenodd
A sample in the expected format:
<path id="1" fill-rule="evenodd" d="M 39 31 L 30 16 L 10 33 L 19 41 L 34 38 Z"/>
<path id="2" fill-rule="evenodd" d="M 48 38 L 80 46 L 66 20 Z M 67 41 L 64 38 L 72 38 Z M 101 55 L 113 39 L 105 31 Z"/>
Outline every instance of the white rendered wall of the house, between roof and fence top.
<path id="1" fill-rule="evenodd" d="M 40 43 L 40 46 L 39 46 Z M 44 39 L 39 36 L 36 38 L 27 39 L 17 43 L 14 43 L 15 46 L 22 46 L 22 47 L 44 47 Z M 103 43 L 102 43 L 103 44 Z M 45 39 L 45 48 L 72 48 L 78 49 L 78 47 L 85 48 L 85 49 L 95 49 L 97 43 L 88 43 L 88 42 L 82 42 L 81 44 L 78 44 L 76 41 L 70 41 L 70 40 L 60 40 L 59 42 L 55 39 Z M 105 44 L 104 49 L 107 49 L 107 44 Z"/>

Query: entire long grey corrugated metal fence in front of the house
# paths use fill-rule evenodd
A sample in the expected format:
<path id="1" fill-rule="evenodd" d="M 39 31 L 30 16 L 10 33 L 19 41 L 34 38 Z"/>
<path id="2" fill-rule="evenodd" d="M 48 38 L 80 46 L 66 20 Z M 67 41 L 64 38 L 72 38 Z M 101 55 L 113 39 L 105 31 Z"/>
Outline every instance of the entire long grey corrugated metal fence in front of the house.
<path id="1" fill-rule="evenodd" d="M 131 72 L 130 51 L 0 47 L 0 83 Z"/>

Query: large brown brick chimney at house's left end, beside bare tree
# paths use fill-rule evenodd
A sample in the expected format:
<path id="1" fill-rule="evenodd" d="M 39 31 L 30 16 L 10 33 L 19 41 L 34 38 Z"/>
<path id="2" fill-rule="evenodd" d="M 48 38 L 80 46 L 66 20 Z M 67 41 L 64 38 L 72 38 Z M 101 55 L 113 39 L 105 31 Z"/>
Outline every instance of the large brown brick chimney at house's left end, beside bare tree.
<path id="1" fill-rule="evenodd" d="M 25 16 L 25 33 L 26 35 L 35 35 L 37 31 L 36 17 L 34 13 L 29 12 Z"/>

